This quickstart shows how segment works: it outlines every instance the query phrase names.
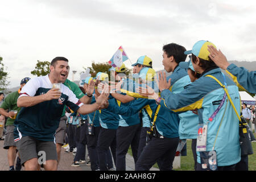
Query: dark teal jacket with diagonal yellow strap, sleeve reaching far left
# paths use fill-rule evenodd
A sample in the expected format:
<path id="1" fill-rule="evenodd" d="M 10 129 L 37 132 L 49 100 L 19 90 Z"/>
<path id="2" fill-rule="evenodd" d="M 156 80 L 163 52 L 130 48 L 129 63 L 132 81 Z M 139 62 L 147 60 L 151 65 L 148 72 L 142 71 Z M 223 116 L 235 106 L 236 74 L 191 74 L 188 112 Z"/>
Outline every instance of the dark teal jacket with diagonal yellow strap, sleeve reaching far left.
<path id="1" fill-rule="evenodd" d="M 149 117 L 154 118 L 156 111 L 155 100 L 148 100 L 146 98 L 138 98 L 137 100 L 131 101 L 131 104 L 128 106 L 117 106 L 113 102 L 109 103 L 109 107 L 107 108 L 109 111 L 115 114 L 121 115 L 133 115 L 138 113 L 139 110 L 144 109 Z M 158 117 L 155 121 L 156 130 L 160 135 L 163 135 L 167 138 L 175 138 L 179 137 L 179 116 L 170 110 L 166 109 L 166 107 L 160 106 Z"/>

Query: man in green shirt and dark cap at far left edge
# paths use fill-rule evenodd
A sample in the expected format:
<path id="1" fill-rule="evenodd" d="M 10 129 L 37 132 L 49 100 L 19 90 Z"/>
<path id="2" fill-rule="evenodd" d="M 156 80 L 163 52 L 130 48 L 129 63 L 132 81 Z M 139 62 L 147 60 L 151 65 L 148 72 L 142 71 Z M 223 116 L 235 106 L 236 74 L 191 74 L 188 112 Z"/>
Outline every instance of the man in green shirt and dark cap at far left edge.
<path id="1" fill-rule="evenodd" d="M 20 111 L 20 107 L 17 106 L 17 99 L 19 97 L 19 92 L 22 89 L 24 85 L 30 80 L 30 78 L 26 77 L 23 78 L 22 81 L 20 81 L 20 88 L 18 91 L 10 93 L 6 98 L 5 101 L 3 101 L 2 105 L 0 106 L 0 114 L 7 117 L 6 121 L 6 134 L 5 134 L 5 143 L 3 144 L 3 148 L 8 150 L 8 161 L 9 161 L 9 167 L 10 171 L 14 171 L 14 161 L 16 158 L 16 144 L 14 143 L 14 121 L 15 119 L 12 119 L 15 114 L 11 110 L 17 110 L 18 113 Z M 8 112 L 6 110 L 9 110 Z M 16 115 L 18 115 L 18 113 Z M 19 163 L 19 156 L 17 158 L 17 162 Z M 16 171 L 19 171 L 21 168 L 21 165 L 16 164 Z"/>

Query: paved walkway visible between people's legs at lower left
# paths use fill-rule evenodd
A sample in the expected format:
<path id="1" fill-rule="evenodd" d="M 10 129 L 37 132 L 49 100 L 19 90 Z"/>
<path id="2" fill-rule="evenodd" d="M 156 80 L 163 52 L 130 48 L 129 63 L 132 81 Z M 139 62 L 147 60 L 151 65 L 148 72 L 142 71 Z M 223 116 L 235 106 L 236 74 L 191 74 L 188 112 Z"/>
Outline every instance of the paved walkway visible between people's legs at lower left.
<path id="1" fill-rule="evenodd" d="M 61 148 L 61 157 L 60 163 L 58 166 L 58 171 L 91 171 L 90 166 L 86 164 L 80 164 L 79 167 L 72 167 L 74 155 L 73 154 L 64 154 L 65 149 Z M 86 152 L 88 154 L 88 152 Z M 134 160 L 133 157 L 129 154 L 126 155 L 126 170 L 134 171 Z M 22 169 L 24 169 L 22 167 Z M 3 140 L 0 140 L 0 171 L 8 171 L 9 163 L 7 160 L 7 150 L 3 149 Z M 158 168 L 151 168 L 152 171 L 159 171 Z"/>

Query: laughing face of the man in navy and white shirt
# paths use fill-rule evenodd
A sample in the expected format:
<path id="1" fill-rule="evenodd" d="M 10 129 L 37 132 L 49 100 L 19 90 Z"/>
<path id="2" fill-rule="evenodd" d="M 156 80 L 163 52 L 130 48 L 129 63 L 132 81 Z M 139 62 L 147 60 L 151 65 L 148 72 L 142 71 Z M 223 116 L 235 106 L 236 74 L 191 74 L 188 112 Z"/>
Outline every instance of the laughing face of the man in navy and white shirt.
<path id="1" fill-rule="evenodd" d="M 67 61 L 56 61 L 55 64 L 51 65 L 50 70 L 50 80 L 55 83 L 63 83 L 68 78 L 69 65 Z"/>

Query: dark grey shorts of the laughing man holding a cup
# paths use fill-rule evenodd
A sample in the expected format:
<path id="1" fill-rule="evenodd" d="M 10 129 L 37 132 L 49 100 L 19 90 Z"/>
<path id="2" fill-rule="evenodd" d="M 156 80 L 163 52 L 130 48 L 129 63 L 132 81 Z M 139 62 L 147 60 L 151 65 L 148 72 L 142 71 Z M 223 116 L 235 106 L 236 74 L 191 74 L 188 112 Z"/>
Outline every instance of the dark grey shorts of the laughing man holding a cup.
<path id="1" fill-rule="evenodd" d="M 56 145 L 53 141 L 42 141 L 33 137 L 22 137 L 17 143 L 22 165 L 30 159 L 38 158 L 38 164 L 46 160 L 57 160 Z"/>

